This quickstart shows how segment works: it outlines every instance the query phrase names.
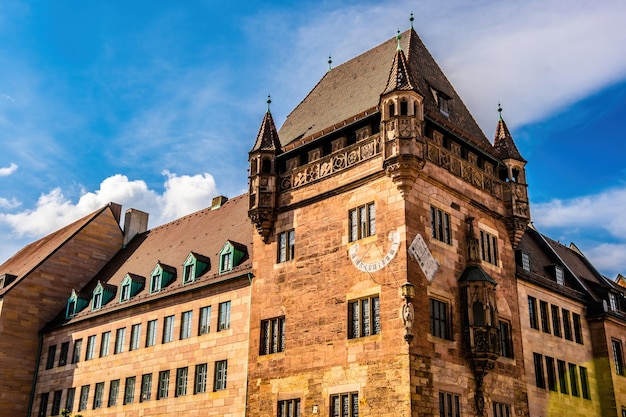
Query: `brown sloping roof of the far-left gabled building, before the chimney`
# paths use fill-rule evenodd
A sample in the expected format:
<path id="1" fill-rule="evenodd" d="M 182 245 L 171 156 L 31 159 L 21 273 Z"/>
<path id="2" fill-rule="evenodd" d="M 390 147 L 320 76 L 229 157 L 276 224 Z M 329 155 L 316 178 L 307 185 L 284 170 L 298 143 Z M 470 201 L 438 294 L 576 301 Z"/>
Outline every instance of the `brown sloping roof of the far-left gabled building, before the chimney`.
<path id="1" fill-rule="evenodd" d="M 0 265 L 0 275 L 16 275 L 17 279 L 11 284 L 11 286 L 17 285 L 22 277 L 28 275 L 29 272 L 35 269 L 46 258 L 51 256 L 56 250 L 63 246 L 63 244 L 71 239 L 72 236 L 87 226 L 89 222 L 98 217 L 105 210 L 110 209 L 110 205 L 104 206 L 101 209 L 76 220 L 74 223 L 63 227 L 62 229 L 59 229 L 56 232 L 24 246 L 4 264 Z M 10 286 L 3 288 L 3 290 L 6 291 L 8 288 L 10 288 Z M 3 291 L 0 291 L 0 293 L 2 292 Z"/>

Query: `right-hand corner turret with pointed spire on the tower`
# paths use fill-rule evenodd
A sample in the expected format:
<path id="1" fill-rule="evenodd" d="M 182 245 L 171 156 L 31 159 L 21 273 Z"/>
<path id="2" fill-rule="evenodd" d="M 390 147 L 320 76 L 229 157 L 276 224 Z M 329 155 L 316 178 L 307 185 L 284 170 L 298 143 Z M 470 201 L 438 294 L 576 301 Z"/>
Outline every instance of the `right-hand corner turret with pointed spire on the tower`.
<path id="1" fill-rule="evenodd" d="M 506 168 L 506 173 L 502 175 L 504 177 L 502 179 L 506 181 L 504 188 L 504 199 L 507 206 L 506 224 L 511 244 L 515 249 L 530 222 L 526 160 L 515 146 L 509 128 L 502 119 L 502 107 L 499 104 L 498 112 L 500 118 L 496 127 L 493 147 Z"/>

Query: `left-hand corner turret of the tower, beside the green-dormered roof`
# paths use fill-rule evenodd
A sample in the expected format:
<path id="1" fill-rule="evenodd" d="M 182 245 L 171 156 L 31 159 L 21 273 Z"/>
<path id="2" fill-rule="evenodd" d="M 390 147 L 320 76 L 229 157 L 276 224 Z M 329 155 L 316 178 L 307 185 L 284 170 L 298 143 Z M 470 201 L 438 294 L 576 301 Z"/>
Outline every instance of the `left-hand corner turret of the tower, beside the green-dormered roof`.
<path id="1" fill-rule="evenodd" d="M 276 218 L 276 157 L 281 154 L 278 131 L 270 112 L 270 100 L 267 99 L 267 112 L 261 122 L 252 150 L 248 153 L 250 163 L 248 217 L 257 231 L 267 242 Z"/>

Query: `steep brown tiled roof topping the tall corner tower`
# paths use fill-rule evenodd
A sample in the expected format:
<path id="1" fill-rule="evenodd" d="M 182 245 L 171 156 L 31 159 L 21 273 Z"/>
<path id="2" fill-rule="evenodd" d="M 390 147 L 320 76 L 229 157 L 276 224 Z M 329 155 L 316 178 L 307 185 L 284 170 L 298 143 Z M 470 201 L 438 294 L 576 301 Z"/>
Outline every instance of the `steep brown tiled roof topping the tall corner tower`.
<path id="1" fill-rule="evenodd" d="M 443 71 L 413 29 L 401 35 L 400 45 L 415 88 L 424 94 L 426 116 L 456 128 L 455 132 L 493 153 L 489 140 L 471 116 Z M 287 116 L 278 134 L 284 145 L 306 138 L 355 115 L 378 111 L 380 95 L 386 88 L 397 51 L 397 40 L 381 45 L 328 71 L 313 90 Z M 436 93 L 450 98 L 449 116 L 441 115 Z"/>

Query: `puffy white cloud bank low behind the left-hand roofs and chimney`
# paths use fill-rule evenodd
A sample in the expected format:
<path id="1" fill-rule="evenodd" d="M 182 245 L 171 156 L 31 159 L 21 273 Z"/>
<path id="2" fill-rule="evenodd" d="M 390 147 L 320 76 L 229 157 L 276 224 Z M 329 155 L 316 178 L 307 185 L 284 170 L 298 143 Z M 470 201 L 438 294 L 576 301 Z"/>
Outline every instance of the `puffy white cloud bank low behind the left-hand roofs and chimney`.
<path id="1" fill-rule="evenodd" d="M 9 227 L 16 238 L 39 238 L 51 233 L 109 202 L 122 204 L 125 208 L 137 208 L 150 214 L 151 227 L 207 207 L 217 195 L 215 180 L 208 174 L 166 176 L 162 195 L 150 190 L 141 180 L 130 181 L 124 175 L 113 175 L 100 184 L 94 192 L 85 192 L 77 203 L 55 188 L 39 197 L 32 210 L 20 213 L 0 213 L 0 225 Z"/>

